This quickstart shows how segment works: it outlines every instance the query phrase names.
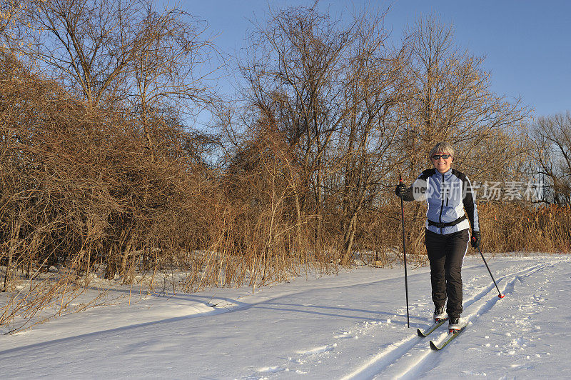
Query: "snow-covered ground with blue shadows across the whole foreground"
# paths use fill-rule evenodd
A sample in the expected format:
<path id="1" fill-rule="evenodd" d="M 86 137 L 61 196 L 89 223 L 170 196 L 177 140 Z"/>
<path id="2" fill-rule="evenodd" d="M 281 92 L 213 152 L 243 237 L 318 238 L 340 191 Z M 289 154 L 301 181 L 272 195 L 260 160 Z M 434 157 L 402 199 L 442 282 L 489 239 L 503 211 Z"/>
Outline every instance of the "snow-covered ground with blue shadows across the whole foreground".
<path id="1" fill-rule="evenodd" d="M 0 337 L 4 379 L 571 378 L 571 257 L 488 259 L 463 268 L 468 328 L 432 351 L 427 268 L 360 268 L 259 289 L 147 296 Z"/>

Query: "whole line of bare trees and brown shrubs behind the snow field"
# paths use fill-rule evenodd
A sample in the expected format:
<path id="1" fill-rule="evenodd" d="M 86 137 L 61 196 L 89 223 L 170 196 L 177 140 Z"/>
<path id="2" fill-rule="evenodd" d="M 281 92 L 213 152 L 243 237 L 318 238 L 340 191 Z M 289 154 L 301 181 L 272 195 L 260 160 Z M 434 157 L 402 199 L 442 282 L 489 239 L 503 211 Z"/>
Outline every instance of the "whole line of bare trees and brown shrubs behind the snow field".
<path id="1" fill-rule="evenodd" d="M 181 9 L 20 3 L 1 9 L 4 291 L 25 280 L 45 301 L 93 274 L 133 284 L 173 270 L 185 274 L 175 290 L 255 287 L 355 259 L 390 264 L 402 241 L 394 186 L 430 165 L 433 144 L 450 141 L 455 166 L 482 182 L 534 178 L 544 154 L 529 109 L 494 94 L 483 59 L 434 17 L 397 42 L 383 14 L 276 10 L 227 62 L 240 91 L 225 101 L 208 29 Z M 205 113 L 212 129 L 196 127 Z M 423 207 L 406 210 L 419 264 Z M 568 249 L 558 220 L 570 213 L 553 210 L 482 204 L 485 249 Z M 51 266 L 59 282 L 46 287 L 36 279 Z"/>

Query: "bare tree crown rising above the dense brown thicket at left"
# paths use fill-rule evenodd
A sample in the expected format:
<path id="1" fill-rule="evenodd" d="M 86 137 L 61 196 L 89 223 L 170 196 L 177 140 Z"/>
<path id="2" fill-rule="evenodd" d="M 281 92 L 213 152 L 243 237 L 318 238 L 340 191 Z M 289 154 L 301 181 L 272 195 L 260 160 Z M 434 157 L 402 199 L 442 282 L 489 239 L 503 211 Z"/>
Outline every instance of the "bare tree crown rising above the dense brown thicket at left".
<path id="1" fill-rule="evenodd" d="M 158 10 L 151 0 L 23 0 L 21 9 L 11 49 L 94 109 L 128 100 L 146 125 L 148 109 L 212 100 L 207 25 L 181 9 Z"/>

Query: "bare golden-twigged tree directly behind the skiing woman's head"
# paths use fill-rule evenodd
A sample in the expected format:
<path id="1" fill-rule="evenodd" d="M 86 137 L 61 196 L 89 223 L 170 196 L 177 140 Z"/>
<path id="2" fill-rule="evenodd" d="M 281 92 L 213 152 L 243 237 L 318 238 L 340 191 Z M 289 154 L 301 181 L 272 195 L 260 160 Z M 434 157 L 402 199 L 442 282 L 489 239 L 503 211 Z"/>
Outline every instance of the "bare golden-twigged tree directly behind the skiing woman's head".
<path id="1" fill-rule="evenodd" d="M 421 18 L 408 30 L 410 41 L 411 93 L 405 124 L 405 149 L 413 172 L 426 163 L 425 151 L 437 141 L 458 147 L 456 164 L 477 178 L 501 170 L 520 156 L 521 147 L 512 131 L 522 131 L 530 110 L 521 99 L 510 101 L 490 89 L 490 73 L 484 58 L 460 49 L 453 29 L 434 16 Z M 482 160 L 494 142 L 504 144 L 490 165 Z M 484 149 L 482 149 L 484 148 Z"/>

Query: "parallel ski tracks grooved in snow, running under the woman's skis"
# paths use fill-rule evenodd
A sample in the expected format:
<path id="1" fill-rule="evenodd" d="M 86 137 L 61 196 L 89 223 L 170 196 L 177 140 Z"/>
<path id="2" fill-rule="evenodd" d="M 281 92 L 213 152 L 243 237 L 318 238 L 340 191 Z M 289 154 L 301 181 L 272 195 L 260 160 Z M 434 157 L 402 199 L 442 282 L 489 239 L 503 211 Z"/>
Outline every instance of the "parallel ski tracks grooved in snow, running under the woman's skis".
<path id="1" fill-rule="evenodd" d="M 515 289 L 515 283 L 522 281 L 525 277 L 532 276 L 537 271 L 547 269 L 555 266 L 557 262 L 550 262 L 545 264 L 538 264 L 530 266 L 525 269 L 520 269 L 510 274 L 505 274 L 496 280 L 498 286 L 502 282 L 507 282 L 501 289 L 503 294 L 509 295 Z M 492 298 L 487 299 L 490 293 L 495 294 Z M 468 326 L 463 335 L 470 334 L 470 326 L 475 324 L 481 316 L 485 316 L 492 306 L 500 301 L 497 297 L 497 290 L 493 282 L 485 287 L 479 293 L 471 296 L 464 301 L 465 314 L 463 319 L 468 321 Z M 468 314 L 466 313 L 468 311 Z M 445 325 L 443 325 L 445 326 Z M 442 329 L 442 326 L 440 327 Z M 395 344 L 391 344 L 388 348 L 380 351 L 373 359 L 355 369 L 348 376 L 344 376 L 343 380 L 350 379 L 418 379 L 430 369 L 438 366 L 438 355 L 440 353 L 433 351 L 428 346 L 428 340 L 433 339 L 435 343 L 443 341 L 448 336 L 448 332 L 438 335 L 438 330 L 430 334 L 426 338 L 420 338 L 416 334 L 410 336 Z M 458 336 L 455 340 L 463 339 L 463 336 Z M 454 342 L 450 344 L 453 346 Z M 516 342 L 517 344 L 517 342 Z M 437 356 L 437 357 L 435 357 Z"/>

